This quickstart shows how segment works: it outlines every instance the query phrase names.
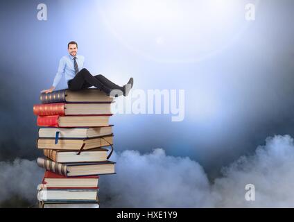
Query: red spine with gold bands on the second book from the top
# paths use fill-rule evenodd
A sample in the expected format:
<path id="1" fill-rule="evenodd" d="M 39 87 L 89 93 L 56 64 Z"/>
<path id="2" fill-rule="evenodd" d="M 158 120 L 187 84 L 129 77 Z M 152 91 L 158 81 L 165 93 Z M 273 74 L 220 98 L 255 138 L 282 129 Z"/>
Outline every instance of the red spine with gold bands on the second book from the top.
<path id="1" fill-rule="evenodd" d="M 37 104 L 33 106 L 33 112 L 36 116 L 64 116 L 64 103 Z"/>

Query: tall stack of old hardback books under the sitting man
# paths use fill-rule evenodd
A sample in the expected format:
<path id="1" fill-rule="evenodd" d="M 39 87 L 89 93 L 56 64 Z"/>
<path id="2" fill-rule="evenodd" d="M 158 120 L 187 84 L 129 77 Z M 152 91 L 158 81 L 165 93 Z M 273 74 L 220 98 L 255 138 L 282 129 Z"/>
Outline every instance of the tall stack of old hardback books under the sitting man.
<path id="1" fill-rule="evenodd" d="M 37 148 L 45 157 L 37 164 L 44 168 L 38 187 L 39 206 L 98 208 L 98 180 L 101 174 L 112 174 L 113 102 L 99 89 L 77 92 L 62 89 L 41 94 L 42 104 L 34 105 L 37 115 Z M 106 146 L 111 146 L 108 154 Z"/>

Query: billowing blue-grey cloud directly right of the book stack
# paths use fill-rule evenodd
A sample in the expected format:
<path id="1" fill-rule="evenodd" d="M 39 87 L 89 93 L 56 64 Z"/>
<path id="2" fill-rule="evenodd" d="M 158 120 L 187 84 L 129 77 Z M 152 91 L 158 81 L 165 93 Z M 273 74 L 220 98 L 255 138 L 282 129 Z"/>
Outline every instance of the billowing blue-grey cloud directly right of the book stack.
<path id="1" fill-rule="evenodd" d="M 106 207 L 201 207 L 206 205 L 209 181 L 202 167 L 188 157 L 166 156 L 157 148 L 115 153 L 116 176 L 101 176 Z"/>

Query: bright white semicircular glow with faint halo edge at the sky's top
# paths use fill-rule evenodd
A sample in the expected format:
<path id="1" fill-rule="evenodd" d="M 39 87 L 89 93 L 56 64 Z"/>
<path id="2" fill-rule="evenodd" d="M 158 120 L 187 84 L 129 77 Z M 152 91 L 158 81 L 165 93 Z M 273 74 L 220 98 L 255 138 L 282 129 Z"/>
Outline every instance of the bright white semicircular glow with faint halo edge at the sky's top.
<path id="1" fill-rule="evenodd" d="M 244 31 L 246 3 L 125 0 L 107 1 L 99 10 L 113 35 L 140 56 L 158 62 L 197 62 L 225 49 Z"/>

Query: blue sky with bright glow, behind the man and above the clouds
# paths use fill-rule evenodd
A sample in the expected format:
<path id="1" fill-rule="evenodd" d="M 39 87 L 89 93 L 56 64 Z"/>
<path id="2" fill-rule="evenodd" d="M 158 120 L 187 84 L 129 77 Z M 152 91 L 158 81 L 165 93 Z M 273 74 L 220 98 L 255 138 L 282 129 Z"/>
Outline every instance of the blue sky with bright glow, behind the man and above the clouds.
<path id="1" fill-rule="evenodd" d="M 185 119 L 118 114 L 116 151 L 164 148 L 211 177 L 276 134 L 293 135 L 293 1 L 1 1 L 1 160 L 34 160 L 33 104 L 67 43 L 92 74 L 135 89 L 184 89 Z M 255 3 L 256 20 L 245 20 Z M 37 20 L 46 3 L 48 20 Z M 62 79 L 58 89 L 66 87 Z"/>

